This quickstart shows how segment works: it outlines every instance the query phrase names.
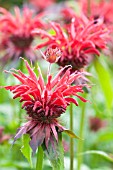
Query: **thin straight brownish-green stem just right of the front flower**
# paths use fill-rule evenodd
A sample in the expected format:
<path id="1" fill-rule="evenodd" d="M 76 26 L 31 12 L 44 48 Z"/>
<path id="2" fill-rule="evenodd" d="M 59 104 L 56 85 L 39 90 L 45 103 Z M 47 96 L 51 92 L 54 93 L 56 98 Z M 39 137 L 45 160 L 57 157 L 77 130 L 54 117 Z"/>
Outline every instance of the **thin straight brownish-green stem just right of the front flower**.
<path id="1" fill-rule="evenodd" d="M 73 132 L 73 105 L 70 104 L 70 130 Z M 74 142 L 73 138 L 70 138 L 70 170 L 73 170 L 74 162 Z"/>

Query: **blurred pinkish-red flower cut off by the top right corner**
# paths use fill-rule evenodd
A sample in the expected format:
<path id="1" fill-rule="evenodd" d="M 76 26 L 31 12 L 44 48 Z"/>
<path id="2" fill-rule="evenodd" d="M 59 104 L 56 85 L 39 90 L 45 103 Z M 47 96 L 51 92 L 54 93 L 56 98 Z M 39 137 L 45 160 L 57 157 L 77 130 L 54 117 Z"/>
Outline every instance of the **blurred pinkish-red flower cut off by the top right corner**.
<path id="1" fill-rule="evenodd" d="M 88 15 L 88 1 L 81 0 L 81 9 Z M 90 18 L 103 18 L 104 24 L 109 28 L 111 32 L 111 41 L 108 42 L 109 49 L 105 50 L 105 55 L 110 56 L 113 60 L 113 0 L 91 1 L 90 2 Z"/>

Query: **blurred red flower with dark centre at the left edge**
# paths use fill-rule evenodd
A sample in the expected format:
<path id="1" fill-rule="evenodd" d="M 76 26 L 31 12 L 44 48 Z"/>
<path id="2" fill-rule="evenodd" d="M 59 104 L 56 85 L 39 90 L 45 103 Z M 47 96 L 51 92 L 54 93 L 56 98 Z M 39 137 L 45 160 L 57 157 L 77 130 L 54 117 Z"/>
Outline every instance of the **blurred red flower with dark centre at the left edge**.
<path id="1" fill-rule="evenodd" d="M 34 36 L 31 32 L 35 28 L 43 28 L 40 15 L 35 15 L 28 8 L 21 11 L 18 7 L 14 8 L 15 15 L 12 15 L 4 8 L 0 8 L 0 46 L 5 51 L 2 60 L 18 59 L 19 56 L 27 56 L 28 59 L 36 60 L 36 54 L 32 49 Z M 5 37 L 5 38 L 4 38 Z M 4 42 L 5 39 L 5 42 Z"/>

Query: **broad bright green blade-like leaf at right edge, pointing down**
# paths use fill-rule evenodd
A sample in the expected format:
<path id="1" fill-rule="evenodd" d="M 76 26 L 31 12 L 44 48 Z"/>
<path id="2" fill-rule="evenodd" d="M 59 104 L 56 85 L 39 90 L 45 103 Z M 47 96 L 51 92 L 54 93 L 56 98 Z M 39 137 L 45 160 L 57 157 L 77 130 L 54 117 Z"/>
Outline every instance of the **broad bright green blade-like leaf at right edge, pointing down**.
<path id="1" fill-rule="evenodd" d="M 108 71 L 108 69 L 104 68 L 104 66 L 97 59 L 94 62 L 94 66 L 106 98 L 107 107 L 108 109 L 111 109 L 113 100 L 113 89 L 111 85 L 110 72 Z"/>

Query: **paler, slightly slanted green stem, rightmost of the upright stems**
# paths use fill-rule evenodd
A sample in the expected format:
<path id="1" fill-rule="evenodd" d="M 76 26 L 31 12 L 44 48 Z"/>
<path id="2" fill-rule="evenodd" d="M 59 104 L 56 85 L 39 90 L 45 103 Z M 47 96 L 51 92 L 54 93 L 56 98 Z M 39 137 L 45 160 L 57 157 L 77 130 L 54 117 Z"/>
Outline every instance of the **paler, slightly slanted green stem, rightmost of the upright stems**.
<path id="1" fill-rule="evenodd" d="M 85 95 L 85 97 L 86 97 L 86 95 Z M 80 132 L 79 132 L 79 136 L 82 139 L 84 138 L 85 107 L 86 107 L 86 103 L 83 103 L 82 113 L 81 113 L 81 118 L 80 118 Z M 81 169 L 83 156 L 80 153 L 83 151 L 83 144 L 84 144 L 83 142 L 84 142 L 83 140 L 78 141 L 78 164 L 77 164 L 77 170 Z"/>

